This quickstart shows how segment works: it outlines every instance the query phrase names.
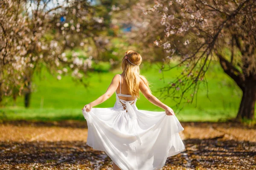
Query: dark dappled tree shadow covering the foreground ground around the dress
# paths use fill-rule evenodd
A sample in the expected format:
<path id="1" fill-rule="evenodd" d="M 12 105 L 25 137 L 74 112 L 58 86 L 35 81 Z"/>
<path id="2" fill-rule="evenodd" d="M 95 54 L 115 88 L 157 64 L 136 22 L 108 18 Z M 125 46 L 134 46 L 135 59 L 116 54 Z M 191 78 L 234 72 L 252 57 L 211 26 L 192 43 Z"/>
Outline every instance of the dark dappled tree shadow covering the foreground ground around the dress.
<path id="1" fill-rule="evenodd" d="M 169 157 L 163 169 L 248 169 L 256 166 L 256 143 L 221 139 L 186 139 L 186 151 Z M 1 142 L 3 169 L 108 170 L 111 159 L 81 141 Z"/>

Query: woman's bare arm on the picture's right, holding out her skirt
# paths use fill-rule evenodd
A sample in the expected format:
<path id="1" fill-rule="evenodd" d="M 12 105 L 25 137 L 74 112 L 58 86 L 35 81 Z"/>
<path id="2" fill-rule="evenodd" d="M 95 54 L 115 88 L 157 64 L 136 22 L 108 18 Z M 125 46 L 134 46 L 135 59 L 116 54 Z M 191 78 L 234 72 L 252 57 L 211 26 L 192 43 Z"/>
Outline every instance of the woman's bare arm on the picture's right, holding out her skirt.
<path id="1" fill-rule="evenodd" d="M 168 107 L 167 105 L 163 104 L 157 97 L 155 97 L 153 94 L 151 94 L 151 91 L 148 89 L 148 87 L 145 85 L 143 80 L 140 80 L 140 91 L 145 96 L 146 99 L 148 99 L 149 102 L 152 104 L 164 109 L 166 111 L 167 115 L 174 115 L 174 111 L 172 108 Z"/>

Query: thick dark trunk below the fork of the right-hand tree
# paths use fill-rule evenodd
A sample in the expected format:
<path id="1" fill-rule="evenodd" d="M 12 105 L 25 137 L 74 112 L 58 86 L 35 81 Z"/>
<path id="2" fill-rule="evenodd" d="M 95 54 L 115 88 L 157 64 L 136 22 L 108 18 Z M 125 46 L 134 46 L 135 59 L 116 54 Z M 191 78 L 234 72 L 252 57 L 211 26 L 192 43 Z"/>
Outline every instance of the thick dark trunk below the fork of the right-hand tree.
<path id="1" fill-rule="evenodd" d="M 254 119 L 256 102 L 256 81 L 246 80 L 242 91 L 243 96 L 236 119 Z"/>

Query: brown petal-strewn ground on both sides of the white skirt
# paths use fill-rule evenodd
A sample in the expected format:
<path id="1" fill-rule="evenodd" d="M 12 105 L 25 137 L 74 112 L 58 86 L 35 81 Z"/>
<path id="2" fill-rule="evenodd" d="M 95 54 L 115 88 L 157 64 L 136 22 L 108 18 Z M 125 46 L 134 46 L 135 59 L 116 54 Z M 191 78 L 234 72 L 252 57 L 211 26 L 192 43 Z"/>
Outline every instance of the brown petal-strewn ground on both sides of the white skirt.
<path id="1" fill-rule="evenodd" d="M 163 170 L 256 170 L 256 127 L 236 123 L 182 123 L 186 146 Z M 111 159 L 86 145 L 85 121 L 0 124 L 0 169 L 111 170 Z"/>

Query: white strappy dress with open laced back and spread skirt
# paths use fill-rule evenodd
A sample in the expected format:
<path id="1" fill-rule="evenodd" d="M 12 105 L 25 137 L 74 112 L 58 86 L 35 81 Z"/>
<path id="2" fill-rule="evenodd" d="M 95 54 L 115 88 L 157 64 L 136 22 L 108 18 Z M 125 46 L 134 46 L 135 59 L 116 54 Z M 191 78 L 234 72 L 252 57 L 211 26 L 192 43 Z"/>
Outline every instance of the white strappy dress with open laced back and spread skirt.
<path id="1" fill-rule="evenodd" d="M 87 120 L 87 145 L 104 151 L 122 170 L 159 170 L 167 157 L 185 149 L 179 132 L 184 130 L 175 115 L 143 111 L 116 93 L 113 108 L 82 110 Z"/>

